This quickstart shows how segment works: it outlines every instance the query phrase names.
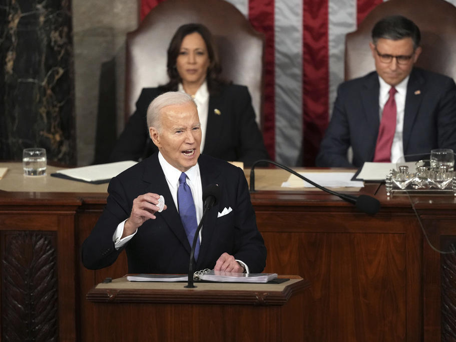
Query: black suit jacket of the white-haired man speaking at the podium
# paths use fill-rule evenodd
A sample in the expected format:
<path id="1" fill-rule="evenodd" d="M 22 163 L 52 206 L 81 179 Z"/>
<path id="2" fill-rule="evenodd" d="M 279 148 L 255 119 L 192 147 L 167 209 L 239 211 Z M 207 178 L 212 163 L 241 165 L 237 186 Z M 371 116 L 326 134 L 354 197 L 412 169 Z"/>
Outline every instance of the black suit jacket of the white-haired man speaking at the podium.
<path id="1" fill-rule="evenodd" d="M 207 213 L 202 228 L 202 243 L 195 270 L 214 268 L 223 252 L 245 262 L 253 273 L 266 263 L 266 248 L 256 226 L 243 171 L 227 162 L 201 155 L 198 159 L 203 189 L 218 184 L 221 198 Z M 163 195 L 168 208 L 157 212 L 138 228 L 124 246 L 130 273 L 188 273 L 190 244 L 174 205 L 165 175 L 154 154 L 114 177 L 108 187 L 105 210 L 82 246 L 82 261 L 87 268 L 111 265 L 123 248 L 116 250 L 113 234 L 118 224 L 130 216 L 133 199 L 152 192 Z M 233 210 L 217 217 L 218 212 Z"/>

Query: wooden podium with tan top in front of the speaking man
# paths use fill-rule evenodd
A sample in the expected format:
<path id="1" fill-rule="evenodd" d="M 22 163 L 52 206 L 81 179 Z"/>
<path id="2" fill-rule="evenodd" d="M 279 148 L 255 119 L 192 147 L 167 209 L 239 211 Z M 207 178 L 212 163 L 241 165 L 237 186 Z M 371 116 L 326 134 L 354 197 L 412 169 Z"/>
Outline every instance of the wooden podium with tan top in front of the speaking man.
<path id="1" fill-rule="evenodd" d="M 100 283 L 87 294 L 93 341 L 301 341 L 310 312 L 299 276 L 280 284 Z M 88 326 L 88 328 L 89 328 Z"/>

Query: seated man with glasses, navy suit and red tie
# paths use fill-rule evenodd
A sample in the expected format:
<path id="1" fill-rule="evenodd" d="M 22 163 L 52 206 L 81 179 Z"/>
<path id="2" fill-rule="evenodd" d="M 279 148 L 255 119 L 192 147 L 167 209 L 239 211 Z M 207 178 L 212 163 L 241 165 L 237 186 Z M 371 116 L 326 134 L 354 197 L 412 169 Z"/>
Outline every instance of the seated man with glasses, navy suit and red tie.
<path id="1" fill-rule="evenodd" d="M 376 71 L 339 86 L 317 166 L 360 167 L 434 148 L 456 151 L 456 85 L 414 67 L 419 42 L 419 29 L 407 18 L 389 16 L 375 24 L 369 45 Z"/>

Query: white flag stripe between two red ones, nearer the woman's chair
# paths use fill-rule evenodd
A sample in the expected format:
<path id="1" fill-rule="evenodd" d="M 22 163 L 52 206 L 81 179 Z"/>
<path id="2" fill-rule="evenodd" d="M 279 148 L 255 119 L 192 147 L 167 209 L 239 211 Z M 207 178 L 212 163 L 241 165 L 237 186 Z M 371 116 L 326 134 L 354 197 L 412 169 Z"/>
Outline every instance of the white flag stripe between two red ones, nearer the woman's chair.
<path id="1" fill-rule="evenodd" d="M 276 161 L 295 166 L 302 143 L 302 0 L 276 0 Z"/>

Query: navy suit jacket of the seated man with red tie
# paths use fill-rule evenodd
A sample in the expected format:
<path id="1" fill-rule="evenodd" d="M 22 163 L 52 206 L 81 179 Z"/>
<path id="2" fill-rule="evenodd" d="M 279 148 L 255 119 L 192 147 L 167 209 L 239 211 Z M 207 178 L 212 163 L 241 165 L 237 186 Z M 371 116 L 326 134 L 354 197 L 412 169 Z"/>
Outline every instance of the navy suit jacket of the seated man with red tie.
<path id="1" fill-rule="evenodd" d="M 372 72 L 342 83 L 316 165 L 360 167 L 372 161 L 377 141 L 380 84 Z M 347 160 L 353 148 L 353 165 Z M 434 148 L 456 151 L 456 85 L 446 76 L 414 68 L 405 98 L 404 155 L 428 154 Z"/>

